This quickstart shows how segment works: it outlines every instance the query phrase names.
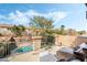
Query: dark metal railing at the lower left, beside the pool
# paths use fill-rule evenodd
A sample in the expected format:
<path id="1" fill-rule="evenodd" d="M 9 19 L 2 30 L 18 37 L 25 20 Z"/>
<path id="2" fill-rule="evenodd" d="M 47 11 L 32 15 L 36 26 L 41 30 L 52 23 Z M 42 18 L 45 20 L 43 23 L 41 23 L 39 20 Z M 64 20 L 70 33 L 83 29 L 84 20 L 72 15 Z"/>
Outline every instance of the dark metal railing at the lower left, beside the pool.
<path id="1" fill-rule="evenodd" d="M 11 55 L 11 52 L 20 44 L 32 43 L 32 42 L 0 42 L 0 58 Z"/>

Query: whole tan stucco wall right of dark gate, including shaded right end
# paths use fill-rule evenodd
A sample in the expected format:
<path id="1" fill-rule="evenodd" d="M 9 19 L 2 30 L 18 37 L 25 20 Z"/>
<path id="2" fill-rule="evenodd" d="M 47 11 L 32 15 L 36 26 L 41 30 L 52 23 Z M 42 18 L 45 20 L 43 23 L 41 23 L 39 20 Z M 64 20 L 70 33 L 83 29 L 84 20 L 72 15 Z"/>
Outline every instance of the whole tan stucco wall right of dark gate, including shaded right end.
<path id="1" fill-rule="evenodd" d="M 55 36 L 56 45 L 59 45 L 62 43 L 62 45 L 75 47 L 75 46 L 81 44 L 83 42 L 87 42 L 87 39 L 79 37 L 79 36 L 73 36 L 73 35 Z"/>

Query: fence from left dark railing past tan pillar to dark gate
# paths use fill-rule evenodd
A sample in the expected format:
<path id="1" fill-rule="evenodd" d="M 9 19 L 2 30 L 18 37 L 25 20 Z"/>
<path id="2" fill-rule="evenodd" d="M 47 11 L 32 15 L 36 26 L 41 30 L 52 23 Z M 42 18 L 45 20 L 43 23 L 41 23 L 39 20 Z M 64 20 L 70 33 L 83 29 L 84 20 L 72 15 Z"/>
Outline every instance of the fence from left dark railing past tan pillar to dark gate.
<path id="1" fill-rule="evenodd" d="M 39 50 L 41 47 L 51 46 L 55 44 L 55 37 L 47 35 L 42 37 L 34 37 L 33 41 L 21 40 L 21 41 L 7 41 L 0 42 L 0 58 L 6 57 L 11 54 L 11 51 L 14 48 L 24 46 L 24 45 L 32 45 L 34 50 Z"/>

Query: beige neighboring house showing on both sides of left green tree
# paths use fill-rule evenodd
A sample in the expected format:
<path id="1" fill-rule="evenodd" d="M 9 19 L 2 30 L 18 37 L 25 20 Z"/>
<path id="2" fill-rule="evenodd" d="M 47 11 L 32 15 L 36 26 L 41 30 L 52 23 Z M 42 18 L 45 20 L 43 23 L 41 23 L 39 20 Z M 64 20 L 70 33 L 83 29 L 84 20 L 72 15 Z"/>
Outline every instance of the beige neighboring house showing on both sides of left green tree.
<path id="1" fill-rule="evenodd" d="M 9 29 L 12 28 L 13 25 L 11 24 L 0 24 L 0 33 L 2 35 L 15 35 L 13 34 Z M 30 36 L 34 33 L 33 29 L 25 28 L 26 30 L 23 32 L 24 36 Z"/>

